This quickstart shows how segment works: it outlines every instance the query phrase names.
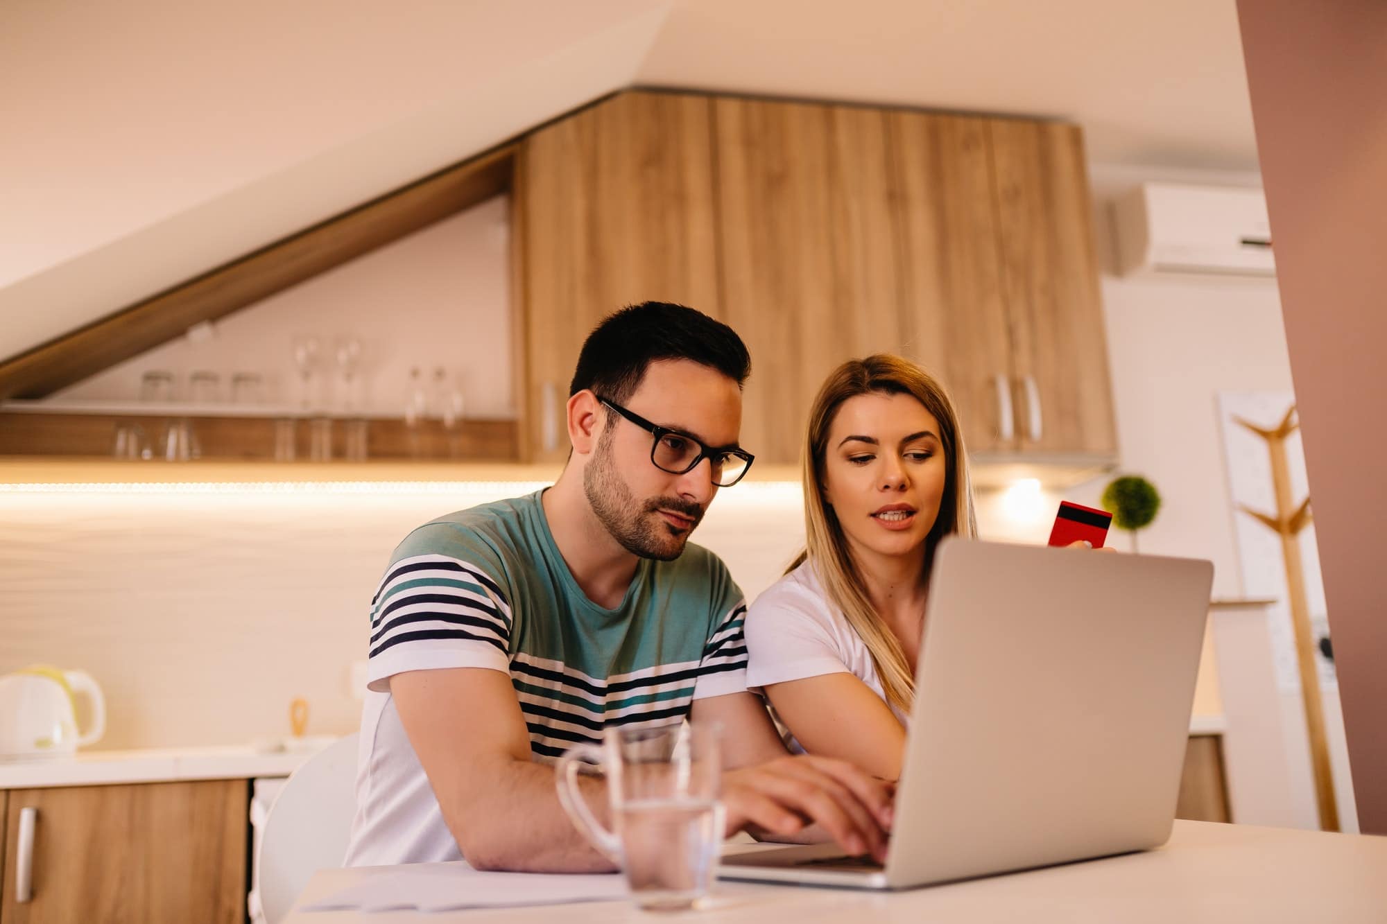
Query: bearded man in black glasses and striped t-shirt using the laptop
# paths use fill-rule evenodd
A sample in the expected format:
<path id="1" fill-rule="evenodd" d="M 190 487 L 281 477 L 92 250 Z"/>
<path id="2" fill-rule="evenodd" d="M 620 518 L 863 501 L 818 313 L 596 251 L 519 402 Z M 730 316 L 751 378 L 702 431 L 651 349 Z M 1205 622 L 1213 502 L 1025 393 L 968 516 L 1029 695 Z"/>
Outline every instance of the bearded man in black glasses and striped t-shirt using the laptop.
<path id="1" fill-rule="evenodd" d="M 691 308 L 645 302 L 587 339 L 559 480 L 440 517 L 395 549 L 370 610 L 348 866 L 610 869 L 573 828 L 552 762 L 603 727 L 723 726 L 728 831 L 820 825 L 885 859 L 889 792 L 786 755 L 746 691 L 741 591 L 689 545 L 738 445 L 746 347 Z M 599 778 L 584 795 L 606 816 Z"/>

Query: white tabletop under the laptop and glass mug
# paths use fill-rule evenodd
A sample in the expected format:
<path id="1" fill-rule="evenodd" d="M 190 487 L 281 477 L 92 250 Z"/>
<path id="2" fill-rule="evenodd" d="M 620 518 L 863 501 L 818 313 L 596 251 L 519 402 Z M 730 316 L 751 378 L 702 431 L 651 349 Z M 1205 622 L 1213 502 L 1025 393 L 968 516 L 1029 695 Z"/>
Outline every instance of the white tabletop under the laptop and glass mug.
<path id="1" fill-rule="evenodd" d="M 644 914 L 627 902 L 445 914 L 298 910 L 355 884 L 362 875 L 361 869 L 320 870 L 284 924 L 1387 921 L 1387 838 L 1207 821 L 1176 821 L 1169 844 L 1146 853 L 908 892 L 718 882 L 710 907 L 682 914 Z"/>

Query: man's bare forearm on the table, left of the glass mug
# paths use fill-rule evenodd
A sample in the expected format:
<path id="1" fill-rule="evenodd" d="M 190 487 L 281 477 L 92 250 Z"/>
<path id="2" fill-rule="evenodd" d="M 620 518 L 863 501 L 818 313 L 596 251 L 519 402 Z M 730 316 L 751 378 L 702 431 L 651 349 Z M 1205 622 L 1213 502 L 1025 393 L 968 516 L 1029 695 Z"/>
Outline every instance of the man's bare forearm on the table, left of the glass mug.
<path id="1" fill-rule="evenodd" d="M 569 820 L 559 803 L 553 767 L 506 760 L 485 769 L 491 785 L 470 806 L 442 805 L 444 820 L 463 857 L 479 870 L 515 873 L 608 873 L 616 869 Z M 588 807 L 609 824 L 606 784 L 578 774 Z"/>

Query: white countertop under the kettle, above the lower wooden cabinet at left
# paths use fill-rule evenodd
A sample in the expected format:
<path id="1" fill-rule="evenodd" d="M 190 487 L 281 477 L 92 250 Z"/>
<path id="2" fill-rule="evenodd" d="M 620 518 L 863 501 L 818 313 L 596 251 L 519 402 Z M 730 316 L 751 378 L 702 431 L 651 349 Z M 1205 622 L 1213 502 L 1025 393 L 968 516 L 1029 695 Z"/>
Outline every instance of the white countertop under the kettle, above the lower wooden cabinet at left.
<path id="1" fill-rule="evenodd" d="M 0 789 L 83 787 L 175 780 L 287 777 L 331 738 L 305 739 L 293 751 L 240 748 L 146 748 L 87 751 L 75 758 L 0 760 Z"/>

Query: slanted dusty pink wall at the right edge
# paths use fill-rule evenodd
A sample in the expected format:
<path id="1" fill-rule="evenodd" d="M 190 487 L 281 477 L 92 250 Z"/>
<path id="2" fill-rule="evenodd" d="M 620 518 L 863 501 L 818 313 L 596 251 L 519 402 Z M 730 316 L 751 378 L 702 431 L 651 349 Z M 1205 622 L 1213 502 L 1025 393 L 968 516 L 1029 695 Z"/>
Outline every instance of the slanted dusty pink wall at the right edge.
<path id="1" fill-rule="evenodd" d="M 1358 820 L 1387 834 L 1387 4 L 1237 6 Z"/>

